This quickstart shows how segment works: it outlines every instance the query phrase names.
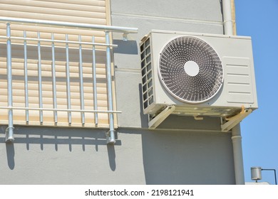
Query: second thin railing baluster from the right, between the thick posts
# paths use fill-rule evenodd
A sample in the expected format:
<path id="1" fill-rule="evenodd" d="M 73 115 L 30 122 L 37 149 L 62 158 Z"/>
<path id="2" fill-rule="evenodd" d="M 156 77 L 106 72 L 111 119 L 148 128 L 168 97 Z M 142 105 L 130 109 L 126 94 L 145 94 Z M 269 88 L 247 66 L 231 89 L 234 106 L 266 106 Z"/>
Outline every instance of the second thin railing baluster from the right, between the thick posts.
<path id="1" fill-rule="evenodd" d="M 79 35 L 79 78 L 80 78 L 80 106 L 81 110 L 84 109 L 84 91 L 83 91 L 83 63 L 82 63 L 82 45 L 81 45 L 81 35 Z M 81 122 L 85 124 L 85 114 L 81 112 Z"/>

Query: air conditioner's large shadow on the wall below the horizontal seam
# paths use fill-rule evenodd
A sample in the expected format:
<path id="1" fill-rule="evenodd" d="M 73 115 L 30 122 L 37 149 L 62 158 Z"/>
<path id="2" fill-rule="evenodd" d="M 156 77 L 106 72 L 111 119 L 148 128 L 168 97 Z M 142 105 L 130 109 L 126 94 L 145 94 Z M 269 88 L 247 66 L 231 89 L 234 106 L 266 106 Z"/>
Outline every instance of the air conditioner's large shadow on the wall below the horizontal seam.
<path id="1" fill-rule="evenodd" d="M 149 131 L 142 144 L 146 184 L 235 184 L 230 134 Z"/>

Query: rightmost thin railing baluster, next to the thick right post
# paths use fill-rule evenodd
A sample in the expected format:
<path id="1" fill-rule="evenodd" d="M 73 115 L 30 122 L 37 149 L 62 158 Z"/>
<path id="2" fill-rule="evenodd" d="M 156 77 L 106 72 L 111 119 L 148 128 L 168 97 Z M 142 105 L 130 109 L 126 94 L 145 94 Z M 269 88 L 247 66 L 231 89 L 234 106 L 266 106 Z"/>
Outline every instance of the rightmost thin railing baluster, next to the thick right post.
<path id="1" fill-rule="evenodd" d="M 95 110 L 98 110 L 98 94 L 96 90 L 96 46 L 95 36 L 92 38 L 93 42 L 93 107 Z M 98 125 L 98 112 L 95 112 L 95 124 Z"/>

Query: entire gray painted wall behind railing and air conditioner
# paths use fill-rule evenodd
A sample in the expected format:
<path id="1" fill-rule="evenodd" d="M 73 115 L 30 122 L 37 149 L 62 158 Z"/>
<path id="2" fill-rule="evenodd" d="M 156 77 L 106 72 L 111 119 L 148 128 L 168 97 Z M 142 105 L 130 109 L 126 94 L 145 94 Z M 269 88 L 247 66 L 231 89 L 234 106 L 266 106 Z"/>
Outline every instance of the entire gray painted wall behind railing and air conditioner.
<path id="1" fill-rule="evenodd" d="M 128 42 L 113 35 L 119 129 L 16 127 L 5 144 L 1 184 L 235 184 L 230 133 L 220 119 L 171 116 L 150 131 L 141 106 L 138 43 L 151 29 L 222 34 L 219 0 L 111 0 L 113 26 L 139 28 Z"/>

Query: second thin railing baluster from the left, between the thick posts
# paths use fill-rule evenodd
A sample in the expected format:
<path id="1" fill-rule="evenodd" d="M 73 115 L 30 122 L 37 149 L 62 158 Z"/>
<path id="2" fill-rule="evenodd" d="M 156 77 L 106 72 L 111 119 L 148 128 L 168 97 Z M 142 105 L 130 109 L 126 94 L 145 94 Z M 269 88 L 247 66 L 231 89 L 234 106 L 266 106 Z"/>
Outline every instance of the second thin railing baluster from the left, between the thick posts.
<path id="1" fill-rule="evenodd" d="M 42 80 L 41 80 L 41 36 L 38 32 L 38 104 L 39 108 L 43 108 L 43 90 L 42 90 Z M 41 124 L 43 123 L 43 111 L 39 110 L 39 118 Z"/>

